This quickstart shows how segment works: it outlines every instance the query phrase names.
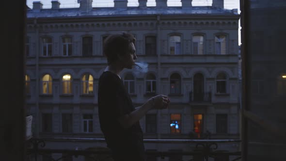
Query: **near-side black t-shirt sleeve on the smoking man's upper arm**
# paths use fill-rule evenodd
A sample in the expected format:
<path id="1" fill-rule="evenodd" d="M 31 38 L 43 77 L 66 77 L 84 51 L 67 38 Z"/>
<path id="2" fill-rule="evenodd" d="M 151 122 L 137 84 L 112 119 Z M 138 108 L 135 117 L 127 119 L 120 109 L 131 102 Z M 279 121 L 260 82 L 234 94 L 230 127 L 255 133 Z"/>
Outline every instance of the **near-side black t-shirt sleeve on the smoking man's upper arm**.
<path id="1" fill-rule="evenodd" d="M 118 118 L 123 115 L 123 98 L 119 92 L 119 82 L 114 77 L 105 77 L 100 80 L 98 95 L 101 110 L 109 118 Z"/>

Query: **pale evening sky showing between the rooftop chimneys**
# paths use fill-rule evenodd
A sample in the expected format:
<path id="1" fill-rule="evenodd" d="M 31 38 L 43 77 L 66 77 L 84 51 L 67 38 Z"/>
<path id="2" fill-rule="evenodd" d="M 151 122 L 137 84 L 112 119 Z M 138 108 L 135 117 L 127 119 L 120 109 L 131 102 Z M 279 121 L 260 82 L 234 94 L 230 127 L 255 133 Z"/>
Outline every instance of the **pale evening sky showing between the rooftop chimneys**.
<path id="1" fill-rule="evenodd" d="M 26 0 L 27 5 L 32 8 L 33 1 L 39 0 Z M 43 8 L 51 8 L 51 0 L 40 0 L 43 4 Z M 79 7 L 78 0 L 58 0 L 61 8 L 73 8 Z M 156 0 L 147 0 L 147 6 L 156 6 Z M 192 6 L 211 6 L 212 0 L 192 0 Z M 138 6 L 138 0 L 128 0 L 127 6 Z M 168 6 L 181 6 L 181 0 L 168 0 Z M 93 0 L 93 7 L 113 7 L 113 0 Z M 224 0 L 225 9 L 238 9 L 238 14 L 240 14 L 239 0 Z M 238 45 L 241 44 L 240 36 L 240 19 L 238 28 Z"/>

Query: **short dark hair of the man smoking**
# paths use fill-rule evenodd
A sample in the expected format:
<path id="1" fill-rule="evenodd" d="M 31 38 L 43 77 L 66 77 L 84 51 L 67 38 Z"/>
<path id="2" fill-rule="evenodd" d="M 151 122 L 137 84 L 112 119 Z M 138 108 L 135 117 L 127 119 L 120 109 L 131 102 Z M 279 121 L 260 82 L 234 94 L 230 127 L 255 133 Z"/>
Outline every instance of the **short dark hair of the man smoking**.
<path id="1" fill-rule="evenodd" d="M 103 42 L 103 54 L 107 57 L 108 65 L 118 59 L 117 54 L 126 54 L 129 50 L 129 44 L 135 44 L 135 41 L 133 34 L 126 32 L 109 35 Z"/>

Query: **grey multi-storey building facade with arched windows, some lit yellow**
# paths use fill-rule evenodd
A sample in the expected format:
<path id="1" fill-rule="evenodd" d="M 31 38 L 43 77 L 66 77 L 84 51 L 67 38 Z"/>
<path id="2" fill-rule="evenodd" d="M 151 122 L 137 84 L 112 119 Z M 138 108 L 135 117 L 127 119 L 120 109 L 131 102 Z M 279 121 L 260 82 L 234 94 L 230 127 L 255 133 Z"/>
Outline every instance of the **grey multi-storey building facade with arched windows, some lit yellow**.
<path id="1" fill-rule="evenodd" d="M 51 9 L 33 2 L 27 12 L 25 79 L 34 136 L 103 138 L 97 113 L 98 78 L 107 66 L 103 40 L 129 32 L 137 40 L 137 62 L 146 67 L 120 75 L 134 106 L 159 94 L 171 99 L 169 109 L 150 110 L 140 120 L 145 139 L 239 139 L 237 10 L 223 9 L 221 0 L 199 7 L 191 0 L 182 0 L 181 7 L 169 7 L 166 0 L 147 7 L 146 1 L 127 7 L 127 0 L 114 0 L 114 7 L 93 8 L 92 0 L 81 0 L 79 8 L 60 8 L 53 0 Z M 47 146 L 59 144 L 106 146 Z M 145 144 L 158 151 L 194 146 Z M 236 151 L 238 145 L 221 148 Z"/>

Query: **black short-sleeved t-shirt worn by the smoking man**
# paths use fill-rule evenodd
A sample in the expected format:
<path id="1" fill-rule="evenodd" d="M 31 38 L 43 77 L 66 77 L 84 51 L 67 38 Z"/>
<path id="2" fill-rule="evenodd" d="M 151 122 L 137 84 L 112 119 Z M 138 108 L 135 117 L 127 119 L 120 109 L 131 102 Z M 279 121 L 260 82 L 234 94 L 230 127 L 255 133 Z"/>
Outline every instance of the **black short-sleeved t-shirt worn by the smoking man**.
<path id="1" fill-rule="evenodd" d="M 105 136 L 107 146 L 111 149 L 134 150 L 134 148 L 142 146 L 137 143 L 138 140 L 143 140 L 139 121 L 128 129 L 124 129 L 117 121 L 118 117 L 134 110 L 123 81 L 110 71 L 103 72 L 98 81 L 98 114 L 100 128 Z"/>

